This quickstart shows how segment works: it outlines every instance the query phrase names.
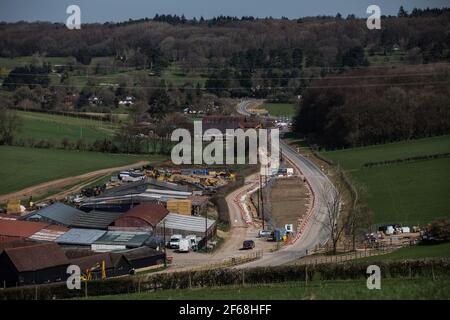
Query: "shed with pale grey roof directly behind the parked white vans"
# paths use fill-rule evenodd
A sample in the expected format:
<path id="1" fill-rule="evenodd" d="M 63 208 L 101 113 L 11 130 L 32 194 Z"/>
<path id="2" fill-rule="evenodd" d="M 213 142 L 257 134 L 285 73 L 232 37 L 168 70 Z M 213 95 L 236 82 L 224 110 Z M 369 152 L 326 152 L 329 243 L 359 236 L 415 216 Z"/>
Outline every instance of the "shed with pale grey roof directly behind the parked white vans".
<path id="1" fill-rule="evenodd" d="M 215 236 L 217 231 L 216 221 L 212 219 L 205 219 L 204 217 L 169 213 L 163 221 L 158 224 L 156 233 L 158 235 L 163 235 L 165 233 L 166 240 L 168 240 L 173 234 L 181 234 L 183 236 L 196 235 L 204 238 L 205 229 L 207 229 L 208 239 Z"/>

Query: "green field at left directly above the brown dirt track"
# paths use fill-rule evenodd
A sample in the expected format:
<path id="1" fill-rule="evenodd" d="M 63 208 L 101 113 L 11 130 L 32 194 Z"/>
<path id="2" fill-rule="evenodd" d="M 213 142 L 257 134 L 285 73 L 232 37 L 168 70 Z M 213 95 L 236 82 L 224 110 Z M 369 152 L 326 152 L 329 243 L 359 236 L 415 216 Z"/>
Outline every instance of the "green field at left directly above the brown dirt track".
<path id="1" fill-rule="evenodd" d="M 104 154 L 53 149 L 0 146 L 0 194 L 46 181 L 133 164 L 163 161 L 163 156 Z"/>

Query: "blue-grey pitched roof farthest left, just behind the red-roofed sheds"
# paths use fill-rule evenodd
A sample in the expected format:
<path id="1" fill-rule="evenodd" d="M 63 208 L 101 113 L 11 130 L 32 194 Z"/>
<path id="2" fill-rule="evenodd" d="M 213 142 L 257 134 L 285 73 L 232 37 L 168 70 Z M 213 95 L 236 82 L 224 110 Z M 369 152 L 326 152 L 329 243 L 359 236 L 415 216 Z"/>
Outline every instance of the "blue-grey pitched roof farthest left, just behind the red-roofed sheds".
<path id="1" fill-rule="evenodd" d="M 56 202 L 44 209 L 38 210 L 27 216 L 27 220 L 50 220 L 56 222 L 57 224 L 62 224 L 65 226 L 70 226 L 74 220 L 81 214 L 84 214 L 83 211 L 78 210 L 74 207 L 65 205 L 61 202 Z"/>

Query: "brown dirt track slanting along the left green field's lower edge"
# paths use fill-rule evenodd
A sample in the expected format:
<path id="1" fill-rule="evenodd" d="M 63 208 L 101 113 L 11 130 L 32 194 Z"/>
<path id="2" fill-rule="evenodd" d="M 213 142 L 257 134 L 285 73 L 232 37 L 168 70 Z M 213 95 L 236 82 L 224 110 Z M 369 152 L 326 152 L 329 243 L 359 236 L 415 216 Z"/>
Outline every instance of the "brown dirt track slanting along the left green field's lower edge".
<path id="1" fill-rule="evenodd" d="M 20 191 L 2 195 L 2 196 L 0 196 L 0 202 L 6 202 L 9 199 L 24 199 L 24 198 L 29 198 L 30 196 L 33 196 L 35 198 L 41 197 L 52 190 L 61 190 L 65 187 L 67 187 L 68 185 L 73 186 L 68 190 L 65 190 L 63 192 L 60 192 L 60 193 L 52 196 L 52 198 L 63 198 L 68 194 L 80 191 L 81 189 L 83 189 L 83 187 L 85 187 L 86 185 L 91 183 L 96 178 L 99 178 L 99 177 L 107 175 L 107 174 L 112 174 L 113 172 L 120 171 L 120 170 L 142 167 L 143 165 L 146 165 L 148 163 L 149 163 L 148 161 L 139 161 L 134 164 L 130 164 L 130 165 L 126 165 L 126 166 L 106 168 L 106 169 L 101 169 L 101 170 L 97 170 L 97 171 L 84 173 L 79 176 L 62 178 L 62 179 L 44 182 L 44 183 L 20 190 Z"/>

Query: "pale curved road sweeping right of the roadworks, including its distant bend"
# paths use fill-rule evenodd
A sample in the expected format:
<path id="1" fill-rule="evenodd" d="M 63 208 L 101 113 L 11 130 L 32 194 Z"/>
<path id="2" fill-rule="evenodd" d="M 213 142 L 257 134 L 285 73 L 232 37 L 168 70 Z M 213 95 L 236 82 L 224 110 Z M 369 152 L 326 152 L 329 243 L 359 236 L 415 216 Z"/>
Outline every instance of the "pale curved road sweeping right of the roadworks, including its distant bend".
<path id="1" fill-rule="evenodd" d="M 242 101 L 237 110 L 243 115 L 250 115 L 247 107 L 253 101 Z M 329 231 L 325 226 L 326 222 L 326 201 L 333 201 L 332 194 L 324 194 L 324 190 L 335 188 L 330 179 L 316 166 L 311 160 L 297 153 L 290 146 L 280 141 L 280 148 L 283 157 L 289 159 L 304 175 L 309 182 L 315 195 L 312 216 L 306 224 L 300 238 L 292 245 L 272 253 L 265 253 L 264 256 L 256 261 L 238 266 L 238 268 L 249 268 L 259 266 L 276 266 L 286 264 L 298 258 L 307 255 L 307 250 L 311 251 L 317 245 L 323 245 L 329 238 Z"/>

